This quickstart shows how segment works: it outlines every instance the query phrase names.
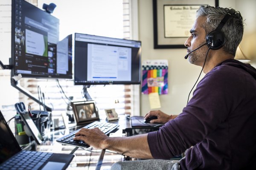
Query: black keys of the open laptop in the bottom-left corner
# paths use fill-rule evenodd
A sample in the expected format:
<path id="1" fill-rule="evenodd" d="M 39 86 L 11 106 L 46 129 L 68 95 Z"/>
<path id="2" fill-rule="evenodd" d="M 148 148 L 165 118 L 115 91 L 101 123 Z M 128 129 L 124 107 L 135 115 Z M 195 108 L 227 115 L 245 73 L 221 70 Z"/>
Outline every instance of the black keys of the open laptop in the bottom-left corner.
<path id="1" fill-rule="evenodd" d="M 22 150 L 0 165 L 0 170 L 38 170 L 52 153 Z"/>

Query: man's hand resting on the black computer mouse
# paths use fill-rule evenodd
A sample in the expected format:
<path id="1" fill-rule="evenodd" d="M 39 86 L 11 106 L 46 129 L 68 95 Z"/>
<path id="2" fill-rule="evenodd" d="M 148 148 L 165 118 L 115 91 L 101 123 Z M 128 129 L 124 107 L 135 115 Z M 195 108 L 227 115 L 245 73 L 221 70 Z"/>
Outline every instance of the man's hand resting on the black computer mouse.
<path id="1" fill-rule="evenodd" d="M 176 115 L 168 115 L 166 113 L 163 113 L 162 111 L 150 111 L 145 116 L 144 119 L 148 119 L 151 116 L 157 116 L 157 119 L 153 119 L 150 121 L 150 123 L 166 123 L 171 119 L 174 119 L 177 117 Z"/>

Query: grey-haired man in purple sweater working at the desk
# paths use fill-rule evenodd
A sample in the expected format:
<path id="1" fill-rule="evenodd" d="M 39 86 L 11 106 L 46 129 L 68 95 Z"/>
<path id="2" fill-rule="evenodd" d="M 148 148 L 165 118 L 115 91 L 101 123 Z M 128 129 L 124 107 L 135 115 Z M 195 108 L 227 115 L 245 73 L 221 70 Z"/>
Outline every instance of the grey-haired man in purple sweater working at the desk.
<path id="1" fill-rule="evenodd" d="M 187 52 L 203 45 L 207 34 L 217 28 L 228 11 L 201 6 L 185 42 Z M 186 157 L 179 162 L 181 170 L 256 169 L 256 69 L 234 60 L 243 36 L 238 11 L 230 15 L 221 32 L 225 35 L 223 47 L 209 50 L 204 45 L 188 55 L 189 62 L 203 67 L 206 75 L 182 113 L 169 116 L 150 111 L 145 115 L 145 119 L 157 116 L 152 122 L 166 123 L 160 130 L 109 138 L 98 128 L 82 129 L 74 139 L 147 159 L 118 162 L 113 169 L 171 169 L 169 159 L 185 150 Z"/>

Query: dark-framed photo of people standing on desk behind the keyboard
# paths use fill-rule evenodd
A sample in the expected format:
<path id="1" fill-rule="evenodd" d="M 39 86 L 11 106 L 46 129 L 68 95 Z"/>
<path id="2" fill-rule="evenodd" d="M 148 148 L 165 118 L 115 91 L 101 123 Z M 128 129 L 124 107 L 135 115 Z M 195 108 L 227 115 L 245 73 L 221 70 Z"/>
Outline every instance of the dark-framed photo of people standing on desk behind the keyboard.
<path id="1" fill-rule="evenodd" d="M 93 100 L 71 102 L 76 125 L 88 124 L 99 120 L 99 113 Z"/>

